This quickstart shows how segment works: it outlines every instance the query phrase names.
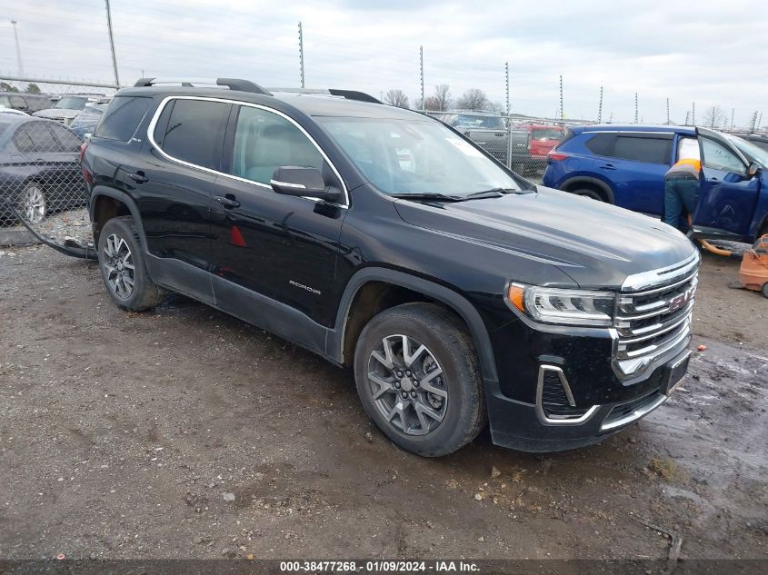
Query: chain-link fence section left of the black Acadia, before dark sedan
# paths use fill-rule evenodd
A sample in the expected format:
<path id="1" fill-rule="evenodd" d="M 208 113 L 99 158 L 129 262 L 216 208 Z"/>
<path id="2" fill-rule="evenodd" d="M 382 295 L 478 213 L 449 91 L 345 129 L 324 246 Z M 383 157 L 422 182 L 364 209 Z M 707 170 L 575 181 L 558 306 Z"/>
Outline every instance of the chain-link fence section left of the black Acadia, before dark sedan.
<path id="1" fill-rule="evenodd" d="M 91 242 L 82 141 L 63 124 L 0 112 L 0 229 L 59 244 Z"/>

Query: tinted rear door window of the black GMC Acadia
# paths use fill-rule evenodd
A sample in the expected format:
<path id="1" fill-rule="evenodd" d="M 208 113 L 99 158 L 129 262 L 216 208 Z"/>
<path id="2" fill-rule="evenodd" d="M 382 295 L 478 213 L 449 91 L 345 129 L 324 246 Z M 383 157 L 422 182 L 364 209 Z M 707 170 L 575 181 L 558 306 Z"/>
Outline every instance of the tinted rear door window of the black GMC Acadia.
<path id="1" fill-rule="evenodd" d="M 176 160 L 218 170 L 230 107 L 221 102 L 175 100 L 165 130 L 161 134 L 155 130 L 155 142 L 162 142 L 165 154 Z"/>

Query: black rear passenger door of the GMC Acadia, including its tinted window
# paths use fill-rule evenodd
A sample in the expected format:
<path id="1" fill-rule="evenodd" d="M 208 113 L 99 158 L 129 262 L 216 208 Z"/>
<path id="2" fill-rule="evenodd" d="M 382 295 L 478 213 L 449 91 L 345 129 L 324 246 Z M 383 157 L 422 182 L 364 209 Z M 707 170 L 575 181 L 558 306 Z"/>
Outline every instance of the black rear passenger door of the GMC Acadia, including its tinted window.
<path id="1" fill-rule="evenodd" d="M 97 134 L 119 114 L 114 108 L 113 102 Z M 122 176 L 141 212 L 149 253 L 165 260 L 162 283 L 203 302 L 213 301 L 208 204 L 221 170 L 231 108 L 205 98 L 167 99 L 149 126 L 148 153 L 141 154 L 140 164 L 126 166 Z M 129 108 L 122 109 L 129 114 Z M 143 137 L 135 134 L 133 139 Z"/>

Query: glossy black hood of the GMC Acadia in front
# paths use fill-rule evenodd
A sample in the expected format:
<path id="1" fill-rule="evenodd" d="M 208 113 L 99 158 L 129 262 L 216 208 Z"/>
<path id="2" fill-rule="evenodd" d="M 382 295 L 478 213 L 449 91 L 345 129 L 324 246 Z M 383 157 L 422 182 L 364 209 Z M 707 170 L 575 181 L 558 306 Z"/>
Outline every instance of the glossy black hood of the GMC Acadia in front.
<path id="1" fill-rule="evenodd" d="M 457 203 L 398 200 L 395 207 L 407 223 L 552 263 L 588 289 L 617 289 L 627 275 L 679 263 L 695 251 L 659 220 L 542 186 L 538 193 Z"/>

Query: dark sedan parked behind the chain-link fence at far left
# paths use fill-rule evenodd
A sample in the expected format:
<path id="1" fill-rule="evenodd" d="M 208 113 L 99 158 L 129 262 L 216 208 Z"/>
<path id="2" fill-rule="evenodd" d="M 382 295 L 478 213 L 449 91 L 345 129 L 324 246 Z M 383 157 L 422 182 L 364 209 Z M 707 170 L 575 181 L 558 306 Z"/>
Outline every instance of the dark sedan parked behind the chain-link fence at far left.
<path id="1" fill-rule="evenodd" d="M 0 214 L 12 215 L 7 201 L 28 223 L 39 223 L 46 213 L 84 205 L 80 144 L 61 124 L 0 114 Z"/>

